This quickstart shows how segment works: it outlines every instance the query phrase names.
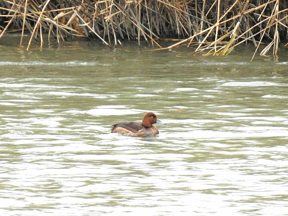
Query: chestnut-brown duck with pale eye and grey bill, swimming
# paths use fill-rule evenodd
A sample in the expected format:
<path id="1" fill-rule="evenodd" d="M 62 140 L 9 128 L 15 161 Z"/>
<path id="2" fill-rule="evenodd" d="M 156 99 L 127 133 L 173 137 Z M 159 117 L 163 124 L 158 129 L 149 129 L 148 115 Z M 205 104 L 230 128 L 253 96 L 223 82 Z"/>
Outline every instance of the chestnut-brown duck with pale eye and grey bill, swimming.
<path id="1" fill-rule="evenodd" d="M 111 133 L 120 133 L 130 137 L 150 137 L 159 134 L 159 131 L 152 124 L 166 124 L 157 116 L 148 112 L 144 115 L 142 122 L 121 122 L 112 125 Z"/>

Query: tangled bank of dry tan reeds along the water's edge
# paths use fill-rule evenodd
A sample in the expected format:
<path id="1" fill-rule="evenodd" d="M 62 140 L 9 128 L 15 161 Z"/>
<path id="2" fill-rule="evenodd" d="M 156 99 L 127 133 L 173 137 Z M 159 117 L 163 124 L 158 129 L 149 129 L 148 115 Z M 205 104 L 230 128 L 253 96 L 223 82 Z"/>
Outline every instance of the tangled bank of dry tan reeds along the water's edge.
<path id="1" fill-rule="evenodd" d="M 276 55 L 287 39 L 285 0 L 0 0 L 0 39 L 5 32 L 31 33 L 43 46 L 42 34 L 59 43 L 70 37 L 98 38 L 106 46 L 121 40 L 147 41 L 158 49 L 193 47 L 204 55 L 227 55 L 242 43 L 255 56 Z M 40 39 L 39 39 L 40 38 Z M 161 47 L 159 40 L 174 39 Z M 173 41 L 173 40 L 172 40 Z M 265 42 L 264 42 L 265 41 Z M 267 42 L 268 41 L 268 42 Z M 286 44 L 287 45 L 287 44 Z M 263 48 L 264 47 L 264 48 Z M 252 59 L 253 59 L 252 57 Z"/>

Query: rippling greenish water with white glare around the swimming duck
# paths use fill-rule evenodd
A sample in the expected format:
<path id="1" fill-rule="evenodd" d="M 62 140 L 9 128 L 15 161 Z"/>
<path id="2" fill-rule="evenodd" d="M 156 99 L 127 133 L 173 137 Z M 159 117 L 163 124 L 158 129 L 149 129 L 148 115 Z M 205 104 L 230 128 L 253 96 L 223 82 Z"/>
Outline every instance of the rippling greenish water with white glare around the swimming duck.
<path id="1" fill-rule="evenodd" d="M 287 215 L 285 48 L 18 43 L 0 41 L 1 215 Z M 109 133 L 146 111 L 158 137 Z"/>

